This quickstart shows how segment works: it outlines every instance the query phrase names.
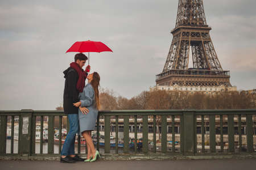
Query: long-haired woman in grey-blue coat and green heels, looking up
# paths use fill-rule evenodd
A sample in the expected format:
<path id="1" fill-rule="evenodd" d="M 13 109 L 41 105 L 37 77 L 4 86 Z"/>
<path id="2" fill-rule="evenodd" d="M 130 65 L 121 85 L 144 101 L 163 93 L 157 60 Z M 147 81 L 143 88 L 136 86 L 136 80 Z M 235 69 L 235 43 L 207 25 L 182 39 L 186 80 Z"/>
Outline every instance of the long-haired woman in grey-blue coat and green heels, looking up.
<path id="1" fill-rule="evenodd" d="M 88 148 L 87 159 L 84 162 L 94 162 L 100 158 L 100 153 L 94 148 L 91 131 L 94 130 L 98 110 L 100 109 L 100 101 L 98 98 L 98 86 L 100 85 L 100 75 L 97 72 L 87 76 L 88 84 L 79 94 L 80 101 L 74 103 L 79 107 L 79 125 L 81 135 L 85 138 Z M 86 108 L 89 112 L 86 111 Z"/>

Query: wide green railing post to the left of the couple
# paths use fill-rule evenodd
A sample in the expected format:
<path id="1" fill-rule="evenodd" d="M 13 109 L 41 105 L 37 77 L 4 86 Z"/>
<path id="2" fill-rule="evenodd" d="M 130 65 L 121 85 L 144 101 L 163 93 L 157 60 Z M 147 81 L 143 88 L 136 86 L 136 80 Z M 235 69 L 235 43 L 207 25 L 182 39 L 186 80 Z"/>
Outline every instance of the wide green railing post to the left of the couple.
<path id="1" fill-rule="evenodd" d="M 18 153 L 23 156 L 31 154 L 31 125 L 33 110 L 21 110 L 19 117 Z M 34 122 L 33 122 L 34 123 Z"/>

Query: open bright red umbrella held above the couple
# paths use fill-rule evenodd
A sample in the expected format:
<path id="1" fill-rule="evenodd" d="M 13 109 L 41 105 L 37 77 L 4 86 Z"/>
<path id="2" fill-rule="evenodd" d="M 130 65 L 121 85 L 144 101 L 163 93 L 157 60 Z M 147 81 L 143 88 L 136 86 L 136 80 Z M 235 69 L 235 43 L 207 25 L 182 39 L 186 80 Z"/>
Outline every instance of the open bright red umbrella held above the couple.
<path id="1" fill-rule="evenodd" d="M 88 52 L 88 57 L 90 57 L 90 52 L 113 52 L 108 46 L 106 46 L 104 43 L 100 41 L 77 41 L 75 42 L 71 48 L 67 50 L 68 52 Z M 88 60 L 88 63 L 90 61 L 90 58 Z"/>

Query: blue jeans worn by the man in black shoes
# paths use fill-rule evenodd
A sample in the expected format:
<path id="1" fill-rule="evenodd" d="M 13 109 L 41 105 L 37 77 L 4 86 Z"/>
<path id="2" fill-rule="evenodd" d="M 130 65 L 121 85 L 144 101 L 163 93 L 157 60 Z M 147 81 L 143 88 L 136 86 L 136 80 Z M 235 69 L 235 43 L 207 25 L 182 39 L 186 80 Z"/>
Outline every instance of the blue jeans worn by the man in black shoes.
<path id="1" fill-rule="evenodd" d="M 75 138 L 79 133 L 79 117 L 78 114 L 68 114 L 69 132 L 63 144 L 61 155 L 75 155 Z"/>

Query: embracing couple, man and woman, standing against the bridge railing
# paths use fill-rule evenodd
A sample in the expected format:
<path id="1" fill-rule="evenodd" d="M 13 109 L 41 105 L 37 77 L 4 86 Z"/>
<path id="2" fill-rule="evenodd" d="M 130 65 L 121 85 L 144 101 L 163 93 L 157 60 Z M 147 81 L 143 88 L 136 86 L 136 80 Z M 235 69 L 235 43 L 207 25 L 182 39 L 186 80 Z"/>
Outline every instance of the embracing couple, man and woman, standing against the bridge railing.
<path id="1" fill-rule="evenodd" d="M 98 98 L 98 86 L 100 85 L 100 75 L 97 72 L 89 74 L 90 66 L 82 67 L 88 58 L 85 54 L 75 55 L 75 62 L 65 70 L 64 87 L 64 113 L 68 114 L 70 130 L 65 139 L 60 162 L 75 163 L 76 161 L 94 162 L 100 158 L 100 153 L 94 148 L 91 131 L 94 130 L 100 101 Z M 85 79 L 88 84 L 85 86 Z M 75 154 L 76 133 L 81 134 L 86 141 L 88 148 L 87 159 L 82 159 Z"/>

